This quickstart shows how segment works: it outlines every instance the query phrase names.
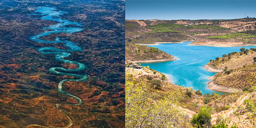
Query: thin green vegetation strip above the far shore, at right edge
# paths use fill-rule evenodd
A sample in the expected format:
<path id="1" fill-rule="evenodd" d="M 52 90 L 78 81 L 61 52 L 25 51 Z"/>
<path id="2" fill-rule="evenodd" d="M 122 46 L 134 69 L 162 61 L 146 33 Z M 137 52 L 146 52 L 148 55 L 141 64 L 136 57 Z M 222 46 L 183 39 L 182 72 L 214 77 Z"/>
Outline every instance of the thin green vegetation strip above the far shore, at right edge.
<path id="1" fill-rule="evenodd" d="M 207 39 L 231 39 L 231 38 L 256 38 L 255 35 L 249 35 L 247 33 L 231 33 L 226 35 L 206 37 Z"/>

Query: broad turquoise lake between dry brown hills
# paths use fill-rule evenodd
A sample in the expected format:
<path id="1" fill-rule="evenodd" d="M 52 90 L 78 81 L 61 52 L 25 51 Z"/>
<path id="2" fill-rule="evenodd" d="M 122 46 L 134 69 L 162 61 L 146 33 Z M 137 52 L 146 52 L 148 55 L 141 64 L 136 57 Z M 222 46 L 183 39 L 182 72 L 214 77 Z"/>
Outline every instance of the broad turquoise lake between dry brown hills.
<path id="1" fill-rule="evenodd" d="M 208 77 L 215 73 L 205 70 L 203 67 L 210 59 L 221 57 L 223 54 L 239 52 L 241 47 L 213 47 L 213 46 L 188 46 L 191 42 L 182 44 L 160 44 L 154 47 L 165 51 L 177 58 L 175 61 L 143 63 L 142 66 L 167 74 L 172 82 L 184 87 L 193 87 L 193 90 L 200 90 L 202 93 L 212 93 L 207 87 Z M 244 46 L 247 49 L 256 46 Z M 219 92 L 218 92 L 219 93 Z"/>

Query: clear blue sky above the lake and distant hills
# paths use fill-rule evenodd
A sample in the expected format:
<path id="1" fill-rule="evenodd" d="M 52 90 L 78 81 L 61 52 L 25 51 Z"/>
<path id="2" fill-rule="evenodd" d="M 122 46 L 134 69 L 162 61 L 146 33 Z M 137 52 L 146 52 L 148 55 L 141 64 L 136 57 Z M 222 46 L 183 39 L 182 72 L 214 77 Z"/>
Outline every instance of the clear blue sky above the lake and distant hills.
<path id="1" fill-rule="evenodd" d="M 126 0 L 126 19 L 256 17 L 256 0 Z"/>

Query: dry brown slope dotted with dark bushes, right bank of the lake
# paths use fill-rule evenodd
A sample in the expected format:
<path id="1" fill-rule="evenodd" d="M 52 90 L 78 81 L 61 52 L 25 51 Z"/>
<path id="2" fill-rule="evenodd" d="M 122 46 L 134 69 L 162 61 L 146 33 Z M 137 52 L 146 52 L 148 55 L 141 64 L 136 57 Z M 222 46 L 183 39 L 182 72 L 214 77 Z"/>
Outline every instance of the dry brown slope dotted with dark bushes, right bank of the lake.
<path id="1" fill-rule="evenodd" d="M 241 52 L 232 52 L 223 57 L 217 57 L 208 63 L 214 69 L 221 69 L 223 72 L 214 75 L 213 83 L 218 86 L 247 89 L 252 86 L 249 79 L 256 80 L 256 49 L 242 49 Z"/>

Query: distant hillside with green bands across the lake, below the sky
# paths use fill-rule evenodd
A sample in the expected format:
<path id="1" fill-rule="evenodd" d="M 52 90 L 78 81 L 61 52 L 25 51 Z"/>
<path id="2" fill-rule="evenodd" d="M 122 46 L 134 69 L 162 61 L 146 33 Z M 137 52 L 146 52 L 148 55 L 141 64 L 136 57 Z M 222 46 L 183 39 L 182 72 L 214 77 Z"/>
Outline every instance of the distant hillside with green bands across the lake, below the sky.
<path id="1" fill-rule="evenodd" d="M 182 42 L 191 45 L 256 45 L 256 18 L 227 20 L 126 20 L 132 43 Z"/>

